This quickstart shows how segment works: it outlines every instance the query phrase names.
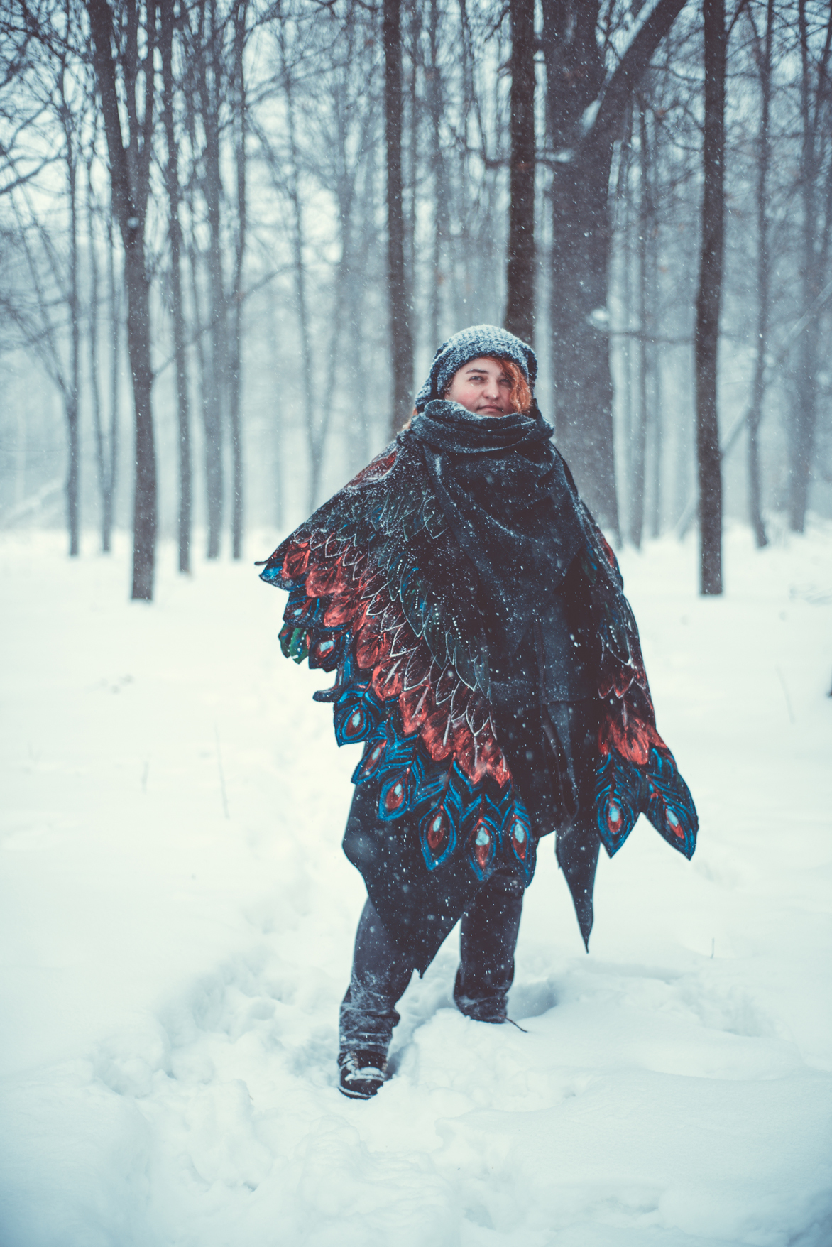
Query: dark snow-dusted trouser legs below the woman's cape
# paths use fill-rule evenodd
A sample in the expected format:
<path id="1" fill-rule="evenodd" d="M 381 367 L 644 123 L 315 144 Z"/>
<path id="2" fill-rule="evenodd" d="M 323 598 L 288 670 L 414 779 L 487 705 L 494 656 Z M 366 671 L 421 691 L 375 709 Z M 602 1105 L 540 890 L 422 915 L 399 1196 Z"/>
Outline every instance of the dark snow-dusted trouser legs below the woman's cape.
<path id="1" fill-rule="evenodd" d="M 454 1001 L 469 1018 L 505 1020 L 521 909 L 523 884 L 508 872 L 496 870 L 463 914 Z M 395 1005 L 414 969 L 413 956 L 393 943 L 368 900 L 356 933 L 349 988 L 341 1005 L 342 1052 L 387 1052 L 399 1020 Z"/>

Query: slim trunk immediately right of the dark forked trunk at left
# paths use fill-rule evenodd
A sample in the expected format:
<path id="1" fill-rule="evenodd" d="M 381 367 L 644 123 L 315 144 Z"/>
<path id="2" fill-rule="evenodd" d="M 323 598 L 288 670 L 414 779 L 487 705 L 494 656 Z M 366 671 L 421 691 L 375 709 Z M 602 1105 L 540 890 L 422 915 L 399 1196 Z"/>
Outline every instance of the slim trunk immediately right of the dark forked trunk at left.
<path id="1" fill-rule="evenodd" d="M 176 418 L 178 433 L 178 556 L 180 571 L 191 570 L 191 407 L 188 399 L 187 354 L 185 348 L 185 311 L 182 306 L 182 227 L 180 223 L 178 141 L 173 117 L 173 5 L 161 0 L 162 110 L 167 165 L 167 238 L 171 248 L 171 315 L 173 320 L 173 355 L 176 360 Z"/>

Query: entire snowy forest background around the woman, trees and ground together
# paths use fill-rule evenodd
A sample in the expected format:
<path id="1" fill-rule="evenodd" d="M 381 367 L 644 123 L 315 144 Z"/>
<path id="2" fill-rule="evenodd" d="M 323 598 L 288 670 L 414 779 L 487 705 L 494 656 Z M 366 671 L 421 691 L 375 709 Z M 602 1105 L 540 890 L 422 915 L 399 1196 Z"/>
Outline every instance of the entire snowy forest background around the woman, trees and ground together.
<path id="1" fill-rule="evenodd" d="M 543 839 L 515 1025 L 453 934 L 357 1104 L 360 754 L 252 565 L 480 323 L 699 847 L 588 956 Z M 831 359 L 832 0 L 0 0 L 2 1247 L 828 1247 Z"/>

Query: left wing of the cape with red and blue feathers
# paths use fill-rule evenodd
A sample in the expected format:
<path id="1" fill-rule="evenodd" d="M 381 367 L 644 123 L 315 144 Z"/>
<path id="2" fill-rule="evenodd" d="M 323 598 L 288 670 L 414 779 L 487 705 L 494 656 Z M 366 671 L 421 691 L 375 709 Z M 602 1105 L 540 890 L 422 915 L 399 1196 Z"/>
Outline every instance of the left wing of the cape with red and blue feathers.
<path id="1" fill-rule="evenodd" d="M 437 505 L 418 443 L 400 435 L 267 561 L 289 590 L 281 646 L 337 671 L 339 744 L 364 741 L 354 783 L 378 778 L 378 813 L 418 812 L 425 865 L 467 854 L 488 878 L 528 879 L 534 839 L 489 707 L 473 569 Z"/>

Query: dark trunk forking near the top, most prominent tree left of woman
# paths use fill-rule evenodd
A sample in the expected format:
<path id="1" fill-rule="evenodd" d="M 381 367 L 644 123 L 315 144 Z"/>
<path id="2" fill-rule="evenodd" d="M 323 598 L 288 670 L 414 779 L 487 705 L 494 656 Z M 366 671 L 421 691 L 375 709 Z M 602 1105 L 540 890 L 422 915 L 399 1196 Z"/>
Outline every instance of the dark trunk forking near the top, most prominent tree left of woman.
<path id="1" fill-rule="evenodd" d="M 150 153 L 153 126 L 153 52 L 156 4 L 146 4 L 146 55 L 138 60 L 138 17 L 133 7 L 127 14 L 127 50 L 120 64 L 125 77 L 135 86 L 140 65 L 145 72 L 145 101 L 141 126 L 136 117 L 135 95 L 126 94 L 131 127 L 131 155 L 122 140 L 116 89 L 116 64 L 112 56 L 112 10 L 106 0 L 86 0 L 94 45 L 94 66 L 101 94 L 101 110 L 107 151 L 112 203 L 125 248 L 125 287 L 127 291 L 127 350 L 132 374 L 136 412 L 136 493 L 133 498 L 133 600 L 152 601 L 156 561 L 156 448 L 151 390 L 153 373 L 150 355 L 150 278 L 145 264 L 145 212 L 150 190 Z M 141 135 L 141 143 L 140 143 Z M 131 177 L 132 172 L 132 177 Z"/>

